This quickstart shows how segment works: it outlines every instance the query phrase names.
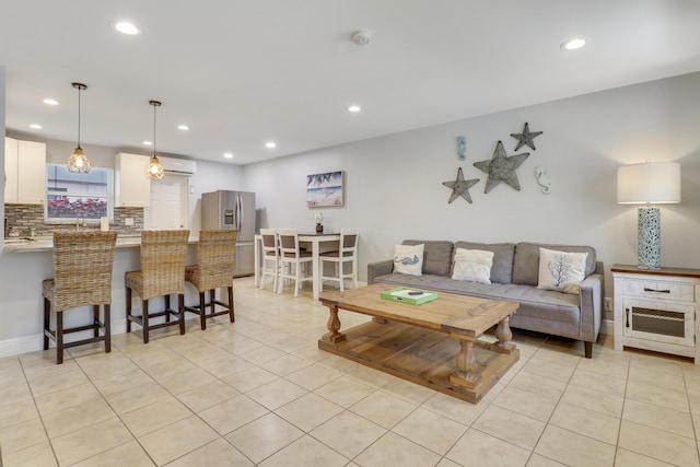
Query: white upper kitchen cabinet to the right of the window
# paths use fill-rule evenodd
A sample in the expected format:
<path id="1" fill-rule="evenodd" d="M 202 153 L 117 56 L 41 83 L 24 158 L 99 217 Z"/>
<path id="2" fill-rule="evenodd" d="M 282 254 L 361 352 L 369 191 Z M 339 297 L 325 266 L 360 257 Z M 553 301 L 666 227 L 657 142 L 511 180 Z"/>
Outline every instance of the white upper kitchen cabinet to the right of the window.
<path id="1" fill-rule="evenodd" d="M 115 156 L 115 207 L 151 206 L 151 180 L 145 176 L 150 157 L 120 152 Z"/>

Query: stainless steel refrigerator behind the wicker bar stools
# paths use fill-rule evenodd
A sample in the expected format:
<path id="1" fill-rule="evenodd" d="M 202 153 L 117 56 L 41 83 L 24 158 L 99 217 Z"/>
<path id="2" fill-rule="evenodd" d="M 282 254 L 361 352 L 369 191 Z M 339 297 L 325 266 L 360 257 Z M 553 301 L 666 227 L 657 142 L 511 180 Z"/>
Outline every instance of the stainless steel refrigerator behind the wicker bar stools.
<path id="1" fill-rule="evenodd" d="M 201 195 L 202 229 L 237 229 L 234 277 L 255 270 L 255 194 L 219 190 Z"/>

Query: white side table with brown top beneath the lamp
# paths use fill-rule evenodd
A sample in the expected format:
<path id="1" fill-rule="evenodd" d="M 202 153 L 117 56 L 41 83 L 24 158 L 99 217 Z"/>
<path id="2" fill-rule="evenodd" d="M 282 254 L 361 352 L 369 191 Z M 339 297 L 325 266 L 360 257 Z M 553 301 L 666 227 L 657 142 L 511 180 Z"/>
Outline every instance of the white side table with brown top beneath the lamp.
<path id="1" fill-rule="evenodd" d="M 634 347 L 693 358 L 700 364 L 700 269 L 614 265 L 611 270 L 615 350 Z"/>

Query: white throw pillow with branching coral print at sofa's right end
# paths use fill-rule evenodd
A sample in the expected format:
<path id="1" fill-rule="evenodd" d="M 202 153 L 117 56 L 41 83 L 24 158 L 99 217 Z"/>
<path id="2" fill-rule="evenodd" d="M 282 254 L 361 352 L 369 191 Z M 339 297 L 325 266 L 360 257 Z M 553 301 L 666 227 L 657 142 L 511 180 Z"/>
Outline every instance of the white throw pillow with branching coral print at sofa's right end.
<path id="1" fill-rule="evenodd" d="M 579 293 L 585 279 L 587 253 L 567 253 L 539 248 L 539 277 L 537 289 L 564 293 Z"/>

